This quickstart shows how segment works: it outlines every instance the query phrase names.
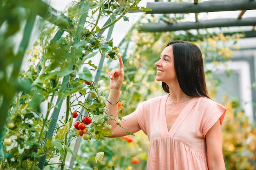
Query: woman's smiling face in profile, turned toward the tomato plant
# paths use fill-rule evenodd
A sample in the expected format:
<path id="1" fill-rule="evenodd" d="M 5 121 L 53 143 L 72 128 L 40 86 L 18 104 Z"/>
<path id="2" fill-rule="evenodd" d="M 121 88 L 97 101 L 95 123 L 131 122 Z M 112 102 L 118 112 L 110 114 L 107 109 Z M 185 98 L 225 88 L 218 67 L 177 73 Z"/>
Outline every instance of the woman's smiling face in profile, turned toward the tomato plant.
<path id="1" fill-rule="evenodd" d="M 155 63 L 157 66 L 156 80 L 169 84 L 177 81 L 174 69 L 173 46 L 167 46 L 161 53 L 160 59 Z"/>

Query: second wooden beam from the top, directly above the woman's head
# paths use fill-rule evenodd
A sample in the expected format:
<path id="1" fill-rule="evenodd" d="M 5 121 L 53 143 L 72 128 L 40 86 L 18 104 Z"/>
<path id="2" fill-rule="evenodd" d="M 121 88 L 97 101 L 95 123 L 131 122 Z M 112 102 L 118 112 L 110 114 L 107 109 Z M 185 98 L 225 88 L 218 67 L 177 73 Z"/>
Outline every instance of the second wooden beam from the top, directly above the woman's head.
<path id="1" fill-rule="evenodd" d="M 138 30 L 141 32 L 164 32 L 164 31 L 179 31 L 189 29 L 206 29 L 214 27 L 229 27 L 229 26 L 253 26 L 256 25 L 256 18 L 243 19 L 214 19 L 198 22 L 180 22 L 180 23 L 146 23 L 139 24 Z"/>

